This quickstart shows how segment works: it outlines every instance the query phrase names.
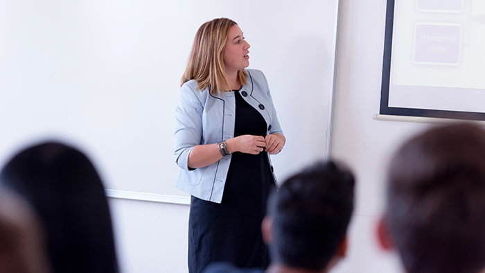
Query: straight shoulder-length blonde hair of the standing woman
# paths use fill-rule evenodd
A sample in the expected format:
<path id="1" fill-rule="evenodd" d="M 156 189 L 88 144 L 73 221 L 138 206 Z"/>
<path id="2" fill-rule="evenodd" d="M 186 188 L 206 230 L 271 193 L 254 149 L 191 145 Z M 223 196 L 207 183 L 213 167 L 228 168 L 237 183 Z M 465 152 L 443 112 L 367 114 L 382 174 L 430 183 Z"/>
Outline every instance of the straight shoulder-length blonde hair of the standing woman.
<path id="1" fill-rule="evenodd" d="M 219 94 L 221 90 L 231 91 L 223 55 L 229 28 L 235 25 L 236 22 L 231 19 L 217 18 L 200 26 L 195 34 L 181 86 L 189 80 L 195 80 L 201 90 L 210 85 L 211 94 Z M 247 83 L 247 73 L 244 69 L 238 71 L 238 81 L 241 85 Z"/>

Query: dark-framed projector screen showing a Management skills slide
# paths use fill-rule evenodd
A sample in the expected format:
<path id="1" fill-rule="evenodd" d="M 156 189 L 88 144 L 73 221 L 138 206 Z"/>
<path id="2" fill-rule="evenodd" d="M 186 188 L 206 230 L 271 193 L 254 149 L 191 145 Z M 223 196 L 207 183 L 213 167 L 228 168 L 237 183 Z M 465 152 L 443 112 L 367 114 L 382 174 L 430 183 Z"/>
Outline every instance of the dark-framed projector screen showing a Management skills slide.
<path id="1" fill-rule="evenodd" d="M 380 114 L 485 120 L 485 0 L 388 0 Z"/>

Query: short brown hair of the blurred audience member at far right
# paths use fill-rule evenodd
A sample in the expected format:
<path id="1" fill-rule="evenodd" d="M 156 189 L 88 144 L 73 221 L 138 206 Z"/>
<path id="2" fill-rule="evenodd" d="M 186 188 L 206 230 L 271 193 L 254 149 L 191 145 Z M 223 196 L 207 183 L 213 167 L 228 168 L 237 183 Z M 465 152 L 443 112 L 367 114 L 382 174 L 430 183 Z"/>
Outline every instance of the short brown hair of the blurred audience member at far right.
<path id="1" fill-rule="evenodd" d="M 485 267 L 485 132 L 436 127 L 407 141 L 389 166 L 385 222 L 408 273 Z"/>

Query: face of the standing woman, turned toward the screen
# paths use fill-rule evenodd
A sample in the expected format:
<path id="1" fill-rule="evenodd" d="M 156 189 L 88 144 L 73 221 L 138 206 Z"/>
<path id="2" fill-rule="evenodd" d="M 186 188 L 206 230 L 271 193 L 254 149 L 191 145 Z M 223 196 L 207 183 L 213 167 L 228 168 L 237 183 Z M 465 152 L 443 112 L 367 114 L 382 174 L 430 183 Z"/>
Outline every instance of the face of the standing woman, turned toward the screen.
<path id="1" fill-rule="evenodd" d="M 249 67 L 249 55 L 247 55 L 249 47 L 239 26 L 231 26 L 223 55 L 224 68 L 227 75 L 232 75 L 241 69 Z"/>

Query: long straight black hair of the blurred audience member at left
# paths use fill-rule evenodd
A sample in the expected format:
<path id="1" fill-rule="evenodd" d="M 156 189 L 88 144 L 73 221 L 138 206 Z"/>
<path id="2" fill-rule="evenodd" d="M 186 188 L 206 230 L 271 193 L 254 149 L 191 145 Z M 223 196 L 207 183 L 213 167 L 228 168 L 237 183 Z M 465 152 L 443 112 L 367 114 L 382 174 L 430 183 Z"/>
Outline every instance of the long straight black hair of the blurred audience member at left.
<path id="1" fill-rule="evenodd" d="M 107 198 L 85 155 L 61 143 L 34 146 L 8 162 L 0 183 L 43 221 L 54 272 L 118 272 Z"/>

